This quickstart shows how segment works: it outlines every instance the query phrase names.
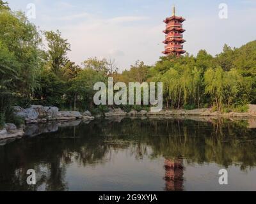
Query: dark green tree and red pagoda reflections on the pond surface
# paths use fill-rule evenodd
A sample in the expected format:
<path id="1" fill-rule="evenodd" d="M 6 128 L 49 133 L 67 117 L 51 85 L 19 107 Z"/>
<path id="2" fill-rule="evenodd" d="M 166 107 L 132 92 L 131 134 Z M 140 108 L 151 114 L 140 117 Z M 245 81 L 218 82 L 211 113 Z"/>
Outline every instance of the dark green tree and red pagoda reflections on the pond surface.
<path id="1" fill-rule="evenodd" d="M 217 163 L 241 170 L 256 164 L 256 132 L 246 120 L 96 120 L 60 128 L 0 147 L 0 190 L 67 191 L 67 168 L 108 163 L 111 152 L 129 149 L 135 159 L 164 157 L 166 191 L 183 189 L 183 161 Z M 36 170 L 36 185 L 26 170 Z"/>

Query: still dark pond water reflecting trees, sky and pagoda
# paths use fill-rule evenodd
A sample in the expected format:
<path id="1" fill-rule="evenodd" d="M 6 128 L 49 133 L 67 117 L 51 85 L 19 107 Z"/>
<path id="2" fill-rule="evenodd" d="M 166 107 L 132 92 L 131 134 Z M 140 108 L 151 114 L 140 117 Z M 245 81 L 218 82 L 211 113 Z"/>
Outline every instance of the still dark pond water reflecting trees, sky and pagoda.
<path id="1" fill-rule="evenodd" d="M 256 191 L 254 124 L 140 117 L 28 126 L 28 136 L 0 142 L 0 191 Z M 223 168 L 228 185 L 218 182 Z"/>

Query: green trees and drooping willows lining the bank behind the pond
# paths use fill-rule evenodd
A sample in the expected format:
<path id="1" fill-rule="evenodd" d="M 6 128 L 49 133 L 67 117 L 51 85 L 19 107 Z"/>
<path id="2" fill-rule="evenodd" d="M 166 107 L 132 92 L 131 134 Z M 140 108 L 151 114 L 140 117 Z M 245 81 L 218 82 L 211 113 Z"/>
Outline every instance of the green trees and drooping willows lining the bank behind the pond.
<path id="1" fill-rule="evenodd" d="M 118 73 L 115 60 L 90 58 L 77 65 L 68 59 L 71 47 L 60 31 L 38 31 L 24 13 L 1 0 L 0 10 L 1 124 L 14 120 L 12 105 L 104 112 L 107 106 L 93 104 L 93 85 L 108 77 L 125 83 L 163 82 L 166 108 L 245 111 L 256 102 L 256 41 L 241 48 L 225 45 L 216 57 L 200 50 L 196 56 L 160 57 L 154 66 L 138 61 Z"/>

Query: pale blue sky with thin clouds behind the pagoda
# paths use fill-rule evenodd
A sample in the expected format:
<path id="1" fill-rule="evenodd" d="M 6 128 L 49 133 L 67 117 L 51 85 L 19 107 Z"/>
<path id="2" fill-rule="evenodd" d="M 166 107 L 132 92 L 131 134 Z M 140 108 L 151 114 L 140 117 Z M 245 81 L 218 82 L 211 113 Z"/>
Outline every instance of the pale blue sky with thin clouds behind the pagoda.
<path id="1" fill-rule="evenodd" d="M 256 0 L 6 0 L 12 10 L 28 12 L 35 4 L 42 31 L 61 31 L 71 44 L 68 57 L 81 64 L 89 57 L 115 59 L 120 71 L 137 60 L 153 65 L 164 50 L 163 20 L 172 15 L 186 18 L 184 50 L 196 55 L 221 52 L 223 45 L 241 47 L 256 40 Z M 228 6 L 220 18 L 221 3 Z"/>

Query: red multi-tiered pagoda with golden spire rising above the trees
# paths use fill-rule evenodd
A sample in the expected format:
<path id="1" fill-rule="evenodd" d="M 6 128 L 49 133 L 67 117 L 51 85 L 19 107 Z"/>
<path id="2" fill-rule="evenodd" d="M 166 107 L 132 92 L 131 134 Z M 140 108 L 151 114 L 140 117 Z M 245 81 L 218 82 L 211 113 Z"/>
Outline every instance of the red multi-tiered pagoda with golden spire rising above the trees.
<path id="1" fill-rule="evenodd" d="M 186 52 L 183 50 L 182 45 L 182 43 L 186 42 L 182 35 L 182 33 L 186 31 L 182 28 L 182 22 L 184 22 L 184 20 L 186 19 L 175 15 L 175 7 L 173 6 L 172 17 L 168 17 L 164 20 L 166 29 L 163 33 L 165 33 L 166 36 L 163 43 L 166 45 L 164 46 L 165 50 L 163 54 L 179 56 Z"/>

